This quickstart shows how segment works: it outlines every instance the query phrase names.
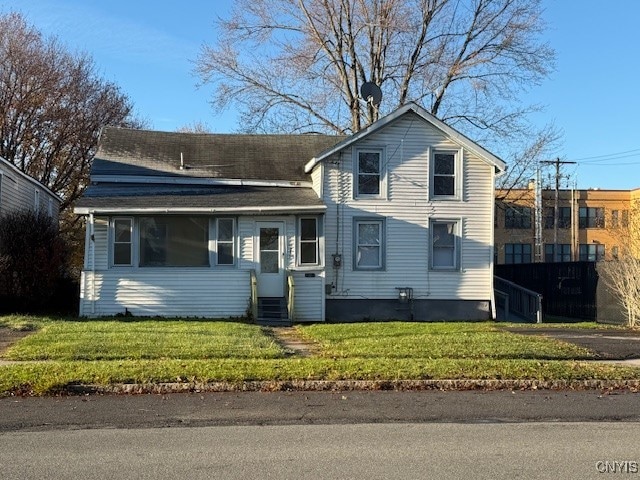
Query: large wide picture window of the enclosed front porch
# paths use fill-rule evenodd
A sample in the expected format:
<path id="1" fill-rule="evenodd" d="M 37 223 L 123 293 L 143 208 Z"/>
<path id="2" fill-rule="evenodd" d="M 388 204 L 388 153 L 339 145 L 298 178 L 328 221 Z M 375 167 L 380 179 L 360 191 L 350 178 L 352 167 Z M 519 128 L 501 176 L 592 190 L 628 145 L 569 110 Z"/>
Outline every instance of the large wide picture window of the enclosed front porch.
<path id="1" fill-rule="evenodd" d="M 140 219 L 141 267 L 209 266 L 209 221 L 203 217 Z"/>

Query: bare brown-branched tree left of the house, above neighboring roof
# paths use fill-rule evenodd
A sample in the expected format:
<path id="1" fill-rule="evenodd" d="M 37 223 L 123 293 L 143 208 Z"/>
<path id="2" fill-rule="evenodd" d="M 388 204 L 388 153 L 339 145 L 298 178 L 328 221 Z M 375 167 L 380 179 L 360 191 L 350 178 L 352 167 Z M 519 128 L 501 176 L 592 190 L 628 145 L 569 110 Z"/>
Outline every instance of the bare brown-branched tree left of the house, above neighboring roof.
<path id="1" fill-rule="evenodd" d="M 100 129 L 138 126 L 132 104 L 85 54 L 45 38 L 19 13 L 0 16 L 0 156 L 63 198 L 86 185 Z"/>

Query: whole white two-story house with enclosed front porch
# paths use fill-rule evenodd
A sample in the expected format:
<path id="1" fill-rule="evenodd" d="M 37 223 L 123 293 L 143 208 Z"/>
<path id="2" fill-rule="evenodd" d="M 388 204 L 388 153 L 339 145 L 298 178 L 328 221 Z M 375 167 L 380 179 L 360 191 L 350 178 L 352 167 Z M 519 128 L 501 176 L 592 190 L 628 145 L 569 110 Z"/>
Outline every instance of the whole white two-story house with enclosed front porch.
<path id="1" fill-rule="evenodd" d="M 350 137 L 107 128 L 80 314 L 490 318 L 504 169 L 415 104 Z"/>

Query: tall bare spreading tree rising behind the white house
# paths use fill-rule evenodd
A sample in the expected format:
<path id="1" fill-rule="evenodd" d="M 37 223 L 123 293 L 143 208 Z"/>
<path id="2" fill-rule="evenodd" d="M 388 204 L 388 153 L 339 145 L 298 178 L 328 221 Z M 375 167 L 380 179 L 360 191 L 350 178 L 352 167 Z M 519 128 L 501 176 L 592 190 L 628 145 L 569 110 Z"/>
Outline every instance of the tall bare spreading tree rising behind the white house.
<path id="1" fill-rule="evenodd" d="M 415 101 L 476 140 L 533 138 L 518 152 L 555 137 L 519 101 L 553 68 L 539 0 L 236 0 L 217 23 L 196 72 L 244 130 L 350 133 Z"/>

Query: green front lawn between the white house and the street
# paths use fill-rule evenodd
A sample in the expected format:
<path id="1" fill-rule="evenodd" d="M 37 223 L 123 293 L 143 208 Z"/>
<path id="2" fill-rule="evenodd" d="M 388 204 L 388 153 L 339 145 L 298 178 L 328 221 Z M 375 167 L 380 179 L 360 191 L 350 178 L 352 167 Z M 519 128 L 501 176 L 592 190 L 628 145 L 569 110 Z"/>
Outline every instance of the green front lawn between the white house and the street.
<path id="1" fill-rule="evenodd" d="M 502 325 L 502 324 L 500 324 Z M 35 329 L 4 354 L 0 394 L 69 385 L 264 380 L 640 379 L 640 369 L 586 363 L 592 353 L 493 323 L 360 323 L 297 327 L 320 345 L 285 357 L 256 326 L 212 320 L 0 317 Z"/>

